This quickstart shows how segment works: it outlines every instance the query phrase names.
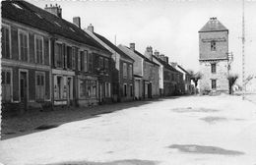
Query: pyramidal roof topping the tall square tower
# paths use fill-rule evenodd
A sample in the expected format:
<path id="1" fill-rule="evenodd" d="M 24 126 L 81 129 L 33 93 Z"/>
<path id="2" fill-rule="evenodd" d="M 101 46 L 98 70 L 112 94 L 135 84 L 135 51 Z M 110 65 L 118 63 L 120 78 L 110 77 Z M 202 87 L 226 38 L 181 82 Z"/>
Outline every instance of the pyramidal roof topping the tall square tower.
<path id="1" fill-rule="evenodd" d="M 217 20 L 217 18 L 211 18 L 207 24 L 202 27 L 199 32 L 209 32 L 209 31 L 228 31 L 224 25 Z"/>

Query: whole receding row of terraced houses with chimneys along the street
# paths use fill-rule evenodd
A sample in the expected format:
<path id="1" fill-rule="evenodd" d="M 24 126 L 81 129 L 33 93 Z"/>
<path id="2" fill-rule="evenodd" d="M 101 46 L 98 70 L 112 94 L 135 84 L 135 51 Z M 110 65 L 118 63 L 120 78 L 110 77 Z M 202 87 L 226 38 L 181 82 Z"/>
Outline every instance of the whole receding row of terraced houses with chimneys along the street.
<path id="1" fill-rule="evenodd" d="M 92 106 L 191 92 L 190 76 L 148 46 L 114 45 L 90 25 L 26 1 L 2 2 L 2 105 Z"/>

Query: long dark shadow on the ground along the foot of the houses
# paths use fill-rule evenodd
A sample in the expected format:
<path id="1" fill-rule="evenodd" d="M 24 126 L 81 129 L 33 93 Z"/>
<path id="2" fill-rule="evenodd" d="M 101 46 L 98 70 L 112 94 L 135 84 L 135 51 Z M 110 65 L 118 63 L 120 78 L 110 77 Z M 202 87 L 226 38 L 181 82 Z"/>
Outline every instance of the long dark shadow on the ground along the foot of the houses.
<path id="1" fill-rule="evenodd" d="M 95 107 L 58 108 L 53 111 L 30 111 L 22 116 L 6 117 L 2 119 L 2 139 L 16 138 L 32 133 L 37 133 L 56 128 L 62 124 L 82 121 L 100 117 L 108 113 L 124 110 L 132 107 L 140 107 L 156 101 L 175 99 L 178 97 L 164 97 L 143 101 L 113 103 Z"/>

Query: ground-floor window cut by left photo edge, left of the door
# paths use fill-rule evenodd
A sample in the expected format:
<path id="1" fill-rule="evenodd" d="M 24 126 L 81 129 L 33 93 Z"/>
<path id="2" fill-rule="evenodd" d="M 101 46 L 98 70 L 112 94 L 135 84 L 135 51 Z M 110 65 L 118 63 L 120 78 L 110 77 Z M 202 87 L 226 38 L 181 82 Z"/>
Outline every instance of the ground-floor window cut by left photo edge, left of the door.
<path id="1" fill-rule="evenodd" d="M 2 69 L 2 100 L 11 101 L 12 98 L 12 72 Z"/>

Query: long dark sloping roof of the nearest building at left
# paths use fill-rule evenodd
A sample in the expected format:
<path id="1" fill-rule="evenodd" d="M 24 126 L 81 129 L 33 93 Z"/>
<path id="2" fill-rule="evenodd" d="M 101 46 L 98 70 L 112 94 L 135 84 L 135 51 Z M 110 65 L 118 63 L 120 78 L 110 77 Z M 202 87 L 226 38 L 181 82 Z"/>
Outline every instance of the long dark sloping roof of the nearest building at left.
<path id="1" fill-rule="evenodd" d="M 26 1 L 3 1 L 2 18 L 109 52 L 83 29 Z M 110 52 L 109 52 L 110 53 Z"/>

